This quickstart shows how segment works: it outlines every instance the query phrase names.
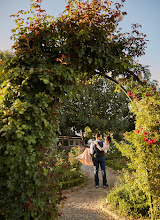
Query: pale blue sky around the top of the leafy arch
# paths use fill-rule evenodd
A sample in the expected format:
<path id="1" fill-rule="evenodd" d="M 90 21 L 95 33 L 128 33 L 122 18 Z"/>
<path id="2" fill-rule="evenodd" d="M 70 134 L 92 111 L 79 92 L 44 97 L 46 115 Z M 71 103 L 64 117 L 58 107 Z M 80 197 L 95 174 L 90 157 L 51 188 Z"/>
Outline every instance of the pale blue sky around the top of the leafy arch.
<path id="1" fill-rule="evenodd" d="M 65 0 L 43 0 L 42 9 L 56 17 L 63 12 L 66 4 Z M 13 45 L 10 36 L 15 24 L 10 15 L 29 8 L 30 0 L 0 0 L 0 50 L 11 50 Z M 149 66 L 151 80 L 157 80 L 160 86 L 160 0 L 126 0 L 123 11 L 126 11 L 127 15 L 121 22 L 122 30 L 130 31 L 131 24 L 139 23 L 142 25 L 141 32 L 147 35 L 149 41 L 145 55 L 138 60 Z"/>

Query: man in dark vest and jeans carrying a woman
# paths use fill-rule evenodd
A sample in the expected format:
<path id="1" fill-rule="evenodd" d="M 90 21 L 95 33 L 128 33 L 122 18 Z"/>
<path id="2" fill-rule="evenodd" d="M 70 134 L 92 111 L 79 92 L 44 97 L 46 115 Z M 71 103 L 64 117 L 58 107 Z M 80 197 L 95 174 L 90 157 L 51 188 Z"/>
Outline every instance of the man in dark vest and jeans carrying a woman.
<path id="1" fill-rule="evenodd" d="M 94 164 L 94 180 L 96 188 L 99 187 L 99 165 L 102 171 L 103 177 L 103 187 L 107 187 L 107 178 L 106 178 L 106 162 L 104 152 L 107 152 L 109 149 L 109 142 L 107 137 L 105 138 L 105 142 L 102 142 L 102 135 L 96 134 L 96 141 L 90 145 L 90 153 L 92 155 L 93 164 Z"/>

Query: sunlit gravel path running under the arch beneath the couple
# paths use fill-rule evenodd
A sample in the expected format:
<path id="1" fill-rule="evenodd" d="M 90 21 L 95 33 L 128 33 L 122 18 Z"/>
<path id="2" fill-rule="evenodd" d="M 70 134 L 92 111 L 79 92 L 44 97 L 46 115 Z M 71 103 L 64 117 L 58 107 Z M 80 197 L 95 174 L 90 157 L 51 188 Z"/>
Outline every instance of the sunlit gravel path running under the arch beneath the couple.
<path id="1" fill-rule="evenodd" d="M 102 175 L 99 172 L 100 187 L 94 186 L 94 174 L 92 166 L 82 165 L 84 174 L 88 177 L 85 186 L 73 187 L 64 191 L 67 197 L 64 207 L 60 208 L 62 212 L 60 220 L 114 220 L 113 216 L 109 216 L 104 212 L 102 204 L 106 201 L 108 191 L 116 182 L 117 173 L 111 168 L 106 168 L 107 180 L 109 187 L 102 187 Z"/>

